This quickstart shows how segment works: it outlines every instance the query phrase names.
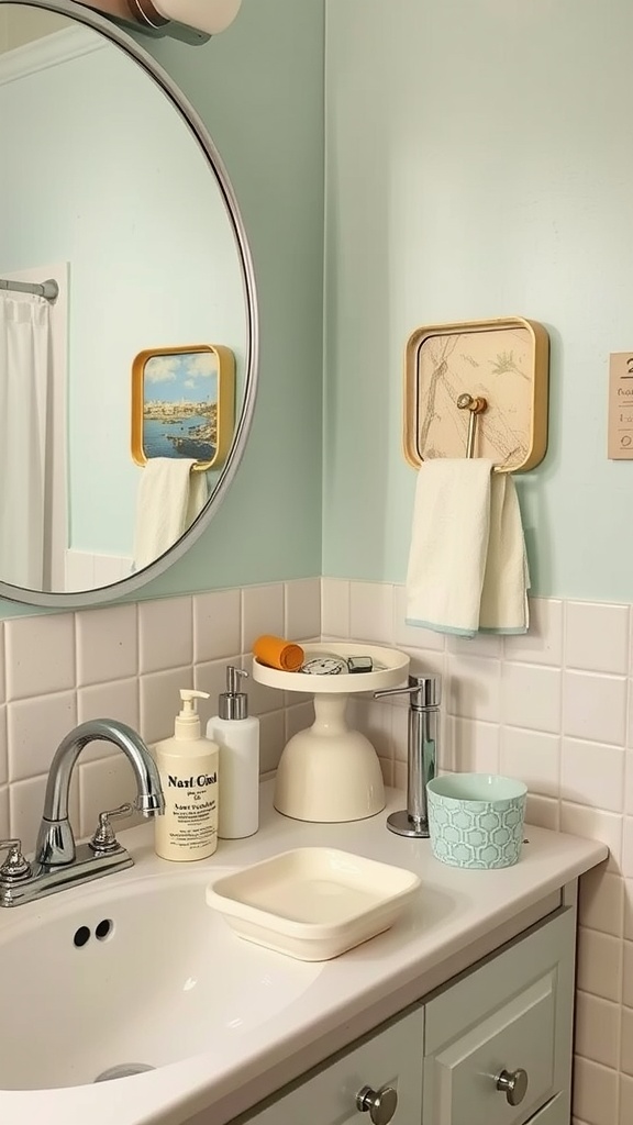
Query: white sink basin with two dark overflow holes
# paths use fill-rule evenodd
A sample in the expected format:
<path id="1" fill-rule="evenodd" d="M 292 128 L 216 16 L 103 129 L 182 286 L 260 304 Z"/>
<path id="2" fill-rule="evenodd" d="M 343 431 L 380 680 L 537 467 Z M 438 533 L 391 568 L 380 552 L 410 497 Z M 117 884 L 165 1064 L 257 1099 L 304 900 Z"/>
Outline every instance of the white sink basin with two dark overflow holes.
<path id="1" fill-rule="evenodd" d="M 211 875 L 109 876 L 2 911 L 0 1090 L 220 1058 L 310 988 L 320 964 L 241 940 L 206 906 Z"/>

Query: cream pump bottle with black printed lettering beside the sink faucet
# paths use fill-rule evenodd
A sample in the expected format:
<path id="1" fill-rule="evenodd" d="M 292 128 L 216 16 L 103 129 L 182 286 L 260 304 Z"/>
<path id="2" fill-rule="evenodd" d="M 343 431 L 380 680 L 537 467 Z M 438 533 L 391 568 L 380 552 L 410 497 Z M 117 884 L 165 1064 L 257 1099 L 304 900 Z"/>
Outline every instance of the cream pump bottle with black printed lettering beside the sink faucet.
<path id="1" fill-rule="evenodd" d="M 154 847 L 162 860 L 179 863 L 206 860 L 217 847 L 219 749 L 203 738 L 196 699 L 207 692 L 180 688 L 182 710 L 173 724 L 173 738 L 153 749 L 164 813 L 154 817 Z"/>

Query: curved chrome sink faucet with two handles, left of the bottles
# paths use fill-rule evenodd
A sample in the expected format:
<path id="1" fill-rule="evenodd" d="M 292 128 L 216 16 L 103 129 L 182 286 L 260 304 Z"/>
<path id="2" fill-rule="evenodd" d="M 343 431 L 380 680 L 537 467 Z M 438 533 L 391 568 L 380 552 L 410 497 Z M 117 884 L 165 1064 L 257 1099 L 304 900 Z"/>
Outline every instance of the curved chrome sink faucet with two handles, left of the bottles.
<path id="1" fill-rule="evenodd" d="M 68 817 L 70 782 L 83 747 L 96 739 L 123 750 L 136 777 L 137 795 L 134 806 L 100 813 L 91 839 L 77 847 Z M 134 808 L 145 817 L 164 809 L 159 772 L 143 740 L 114 719 L 91 719 L 75 727 L 62 739 L 51 764 L 33 863 L 21 854 L 19 840 L 0 842 L 0 848 L 9 853 L 0 867 L 0 907 L 19 906 L 131 867 L 134 861 L 116 839 L 110 819 L 127 816 Z"/>

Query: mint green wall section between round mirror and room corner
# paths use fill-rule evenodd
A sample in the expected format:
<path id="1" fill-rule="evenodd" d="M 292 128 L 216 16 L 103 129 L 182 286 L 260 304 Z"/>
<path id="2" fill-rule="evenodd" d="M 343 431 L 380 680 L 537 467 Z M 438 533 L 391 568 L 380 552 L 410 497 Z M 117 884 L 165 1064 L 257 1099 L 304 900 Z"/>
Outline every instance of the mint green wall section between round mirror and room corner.
<path id="1" fill-rule="evenodd" d="M 235 22 L 199 46 L 137 38 L 191 100 L 226 166 L 261 321 L 259 393 L 234 483 L 207 532 L 140 596 L 312 576 L 321 567 L 323 0 L 243 0 Z M 34 611 L 0 602 L 2 616 L 25 612 Z"/>

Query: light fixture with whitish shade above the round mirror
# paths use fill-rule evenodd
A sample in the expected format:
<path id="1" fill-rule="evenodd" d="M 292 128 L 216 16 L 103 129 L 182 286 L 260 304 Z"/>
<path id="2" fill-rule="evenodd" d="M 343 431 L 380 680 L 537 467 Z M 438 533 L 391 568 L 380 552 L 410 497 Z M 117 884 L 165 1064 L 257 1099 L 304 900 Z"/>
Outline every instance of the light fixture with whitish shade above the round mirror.
<path id="1" fill-rule="evenodd" d="M 242 0 L 81 0 L 105 16 L 114 16 L 144 27 L 166 28 L 170 22 L 219 35 L 233 22 Z"/>

